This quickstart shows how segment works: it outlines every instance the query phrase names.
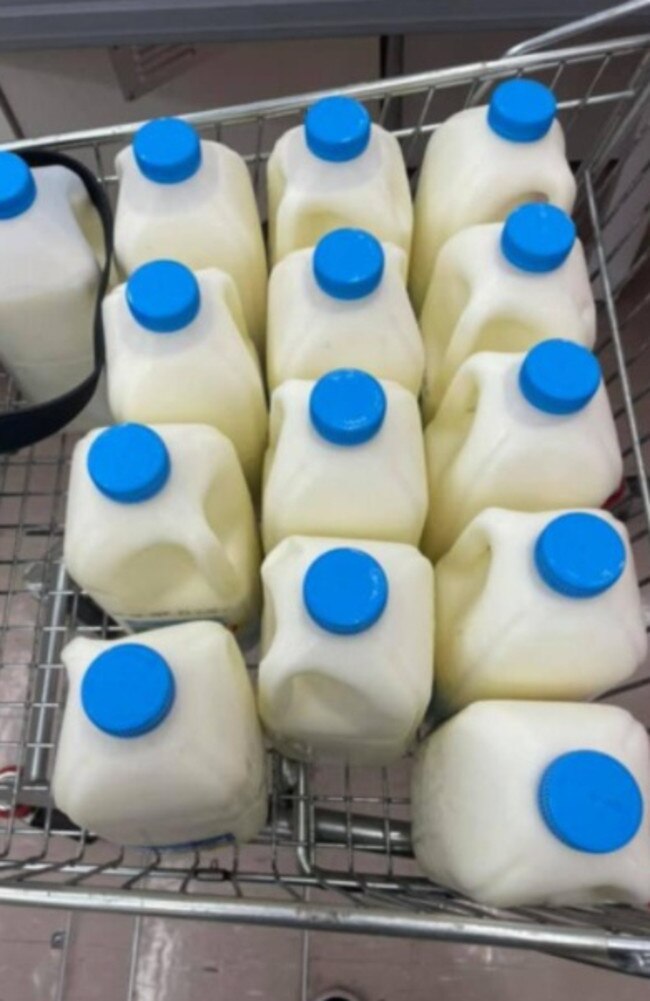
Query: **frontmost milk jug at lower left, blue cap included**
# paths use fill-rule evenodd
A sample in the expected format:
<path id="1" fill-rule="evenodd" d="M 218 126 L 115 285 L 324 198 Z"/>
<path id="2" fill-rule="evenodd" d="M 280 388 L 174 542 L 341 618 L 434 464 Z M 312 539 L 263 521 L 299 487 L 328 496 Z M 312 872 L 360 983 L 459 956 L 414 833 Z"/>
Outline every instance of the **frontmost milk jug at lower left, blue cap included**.
<path id="1" fill-rule="evenodd" d="M 264 750 L 231 634 L 186 623 L 63 651 L 68 698 L 52 792 L 124 845 L 243 842 L 266 818 Z"/>

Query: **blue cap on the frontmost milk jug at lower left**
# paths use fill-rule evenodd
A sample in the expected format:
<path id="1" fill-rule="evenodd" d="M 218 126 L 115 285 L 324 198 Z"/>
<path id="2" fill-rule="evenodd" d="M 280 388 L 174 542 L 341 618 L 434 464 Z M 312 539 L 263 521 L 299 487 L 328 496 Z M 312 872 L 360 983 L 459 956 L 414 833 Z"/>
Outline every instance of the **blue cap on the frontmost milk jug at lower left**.
<path id="1" fill-rule="evenodd" d="M 83 676 L 81 705 L 111 737 L 141 737 L 169 713 L 175 695 L 167 662 L 140 643 L 124 643 L 96 657 Z"/>

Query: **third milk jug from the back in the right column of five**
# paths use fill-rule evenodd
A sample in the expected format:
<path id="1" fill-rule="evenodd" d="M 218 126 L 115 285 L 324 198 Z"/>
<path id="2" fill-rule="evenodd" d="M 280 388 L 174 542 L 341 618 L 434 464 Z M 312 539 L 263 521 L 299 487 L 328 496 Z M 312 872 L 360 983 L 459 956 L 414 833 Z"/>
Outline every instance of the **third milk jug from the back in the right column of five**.
<path id="1" fill-rule="evenodd" d="M 600 508 L 623 459 L 600 365 L 546 340 L 527 354 L 475 354 L 425 434 L 425 552 L 438 560 L 484 508 Z"/>

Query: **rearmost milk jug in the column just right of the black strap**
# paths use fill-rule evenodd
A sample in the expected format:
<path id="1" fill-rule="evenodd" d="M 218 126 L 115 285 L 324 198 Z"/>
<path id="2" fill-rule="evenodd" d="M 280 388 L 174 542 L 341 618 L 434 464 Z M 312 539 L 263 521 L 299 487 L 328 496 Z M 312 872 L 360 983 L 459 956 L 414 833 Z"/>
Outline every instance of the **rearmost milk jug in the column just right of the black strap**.
<path id="1" fill-rule="evenodd" d="M 234 280 L 248 332 L 263 344 L 266 259 L 245 163 L 187 122 L 143 125 L 118 153 L 115 253 L 125 274 L 160 257 L 218 267 Z"/>

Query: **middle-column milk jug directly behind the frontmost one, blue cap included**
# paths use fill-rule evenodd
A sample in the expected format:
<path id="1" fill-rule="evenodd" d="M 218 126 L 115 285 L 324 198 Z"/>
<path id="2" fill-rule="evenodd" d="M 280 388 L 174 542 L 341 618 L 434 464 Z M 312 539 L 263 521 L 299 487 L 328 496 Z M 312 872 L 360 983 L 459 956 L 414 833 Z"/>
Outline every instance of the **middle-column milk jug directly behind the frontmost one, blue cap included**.
<path id="1" fill-rule="evenodd" d="M 354 368 L 275 390 L 262 494 L 267 553 L 296 535 L 417 546 L 426 515 L 413 393 Z"/>

